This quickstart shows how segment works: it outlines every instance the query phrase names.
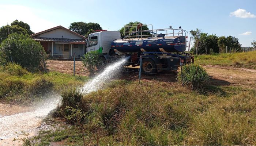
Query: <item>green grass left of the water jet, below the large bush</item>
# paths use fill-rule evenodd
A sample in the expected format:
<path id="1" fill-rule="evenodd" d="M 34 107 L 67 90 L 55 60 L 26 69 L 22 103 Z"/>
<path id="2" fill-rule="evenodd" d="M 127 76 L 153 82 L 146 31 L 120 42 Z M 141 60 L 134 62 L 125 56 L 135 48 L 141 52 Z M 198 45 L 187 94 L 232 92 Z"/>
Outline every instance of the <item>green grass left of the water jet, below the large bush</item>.
<path id="1" fill-rule="evenodd" d="M 82 85 L 88 77 L 71 76 L 68 74 L 49 73 L 20 73 L 15 70 L 0 68 L 0 100 L 4 103 L 30 104 L 40 99 L 44 92 L 60 91 L 65 86 Z"/>

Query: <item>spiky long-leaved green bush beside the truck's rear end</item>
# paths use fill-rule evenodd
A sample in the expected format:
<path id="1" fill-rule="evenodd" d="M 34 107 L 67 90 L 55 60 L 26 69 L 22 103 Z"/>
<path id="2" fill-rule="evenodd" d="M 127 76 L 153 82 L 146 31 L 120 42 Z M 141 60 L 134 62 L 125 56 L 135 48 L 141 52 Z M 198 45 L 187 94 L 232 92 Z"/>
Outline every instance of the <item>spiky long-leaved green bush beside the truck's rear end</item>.
<path id="1" fill-rule="evenodd" d="M 178 73 L 177 80 L 191 89 L 198 89 L 209 80 L 209 76 L 203 67 L 190 64 L 182 66 L 182 72 Z"/>

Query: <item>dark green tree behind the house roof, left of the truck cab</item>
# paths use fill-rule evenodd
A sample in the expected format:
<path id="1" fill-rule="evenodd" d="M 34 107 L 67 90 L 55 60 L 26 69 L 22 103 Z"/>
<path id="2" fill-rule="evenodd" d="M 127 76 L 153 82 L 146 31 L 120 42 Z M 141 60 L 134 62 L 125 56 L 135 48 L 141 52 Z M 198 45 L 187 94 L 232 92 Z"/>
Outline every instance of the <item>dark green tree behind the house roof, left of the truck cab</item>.
<path id="1" fill-rule="evenodd" d="M 80 35 L 85 36 L 88 30 L 102 30 L 98 23 L 85 23 L 85 22 L 73 22 L 69 26 L 69 30 L 74 31 Z"/>

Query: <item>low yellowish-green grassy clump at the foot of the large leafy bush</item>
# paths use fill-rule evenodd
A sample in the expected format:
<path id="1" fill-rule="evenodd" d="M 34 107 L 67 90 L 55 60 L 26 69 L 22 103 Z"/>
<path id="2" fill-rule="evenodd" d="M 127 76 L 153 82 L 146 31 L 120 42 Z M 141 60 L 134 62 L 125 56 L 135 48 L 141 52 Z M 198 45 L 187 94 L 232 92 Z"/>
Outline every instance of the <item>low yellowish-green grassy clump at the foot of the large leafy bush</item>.
<path id="1" fill-rule="evenodd" d="M 11 62 L 8 62 L 4 66 L 4 70 L 10 73 L 11 75 L 16 75 L 16 76 L 22 76 L 23 74 L 28 74 L 27 70 L 25 68 L 22 68 L 22 66 L 17 63 L 12 64 Z"/>

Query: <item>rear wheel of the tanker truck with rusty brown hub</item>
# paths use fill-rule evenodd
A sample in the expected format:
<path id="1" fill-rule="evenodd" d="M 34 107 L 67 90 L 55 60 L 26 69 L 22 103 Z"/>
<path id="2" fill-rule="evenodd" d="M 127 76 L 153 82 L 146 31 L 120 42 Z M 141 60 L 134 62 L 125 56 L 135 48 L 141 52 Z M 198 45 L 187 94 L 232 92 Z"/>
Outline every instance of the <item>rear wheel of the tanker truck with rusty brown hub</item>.
<path id="1" fill-rule="evenodd" d="M 157 72 L 157 66 L 155 65 L 155 62 L 152 59 L 144 58 L 142 59 L 142 71 L 143 73 L 156 73 Z"/>

